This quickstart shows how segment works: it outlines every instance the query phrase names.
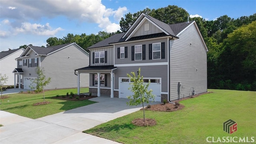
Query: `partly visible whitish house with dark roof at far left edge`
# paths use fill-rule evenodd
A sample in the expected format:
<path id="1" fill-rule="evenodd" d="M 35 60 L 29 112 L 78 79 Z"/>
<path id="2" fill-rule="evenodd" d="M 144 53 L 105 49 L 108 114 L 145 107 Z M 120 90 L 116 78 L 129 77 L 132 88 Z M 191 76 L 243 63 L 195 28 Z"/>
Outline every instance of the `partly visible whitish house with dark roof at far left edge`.
<path id="1" fill-rule="evenodd" d="M 0 73 L 8 76 L 8 81 L 4 85 L 13 85 L 14 76 L 12 70 L 17 67 L 15 58 L 19 57 L 22 52 L 24 52 L 24 48 L 0 52 Z"/>

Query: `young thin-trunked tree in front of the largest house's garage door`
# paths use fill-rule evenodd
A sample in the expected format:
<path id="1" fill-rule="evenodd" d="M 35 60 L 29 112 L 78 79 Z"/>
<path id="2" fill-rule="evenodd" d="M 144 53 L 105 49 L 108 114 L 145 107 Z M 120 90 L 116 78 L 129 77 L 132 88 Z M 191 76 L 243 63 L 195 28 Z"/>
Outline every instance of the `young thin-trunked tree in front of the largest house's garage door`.
<path id="1" fill-rule="evenodd" d="M 154 100 L 155 95 L 152 94 L 152 89 L 148 90 L 150 82 L 145 84 L 143 81 L 143 76 L 140 76 L 140 68 L 137 74 L 138 76 L 136 76 L 134 72 L 131 72 L 131 75 L 127 74 L 127 76 L 131 78 L 131 86 L 128 89 L 131 89 L 131 91 L 134 92 L 132 96 L 128 96 L 130 101 L 127 102 L 127 104 L 130 106 L 137 106 L 142 104 L 144 118 L 143 121 L 145 122 L 144 102 L 148 103 L 150 99 Z"/>

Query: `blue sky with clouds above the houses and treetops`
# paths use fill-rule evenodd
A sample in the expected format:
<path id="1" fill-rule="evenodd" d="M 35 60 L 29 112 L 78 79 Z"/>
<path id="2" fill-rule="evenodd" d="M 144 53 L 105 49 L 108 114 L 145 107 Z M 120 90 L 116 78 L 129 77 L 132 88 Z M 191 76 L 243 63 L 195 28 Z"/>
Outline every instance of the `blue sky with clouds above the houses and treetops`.
<path id="1" fill-rule="evenodd" d="M 116 32 L 127 13 L 168 5 L 205 20 L 256 13 L 256 0 L 0 0 L 0 52 L 23 45 L 46 46 L 50 37 Z"/>

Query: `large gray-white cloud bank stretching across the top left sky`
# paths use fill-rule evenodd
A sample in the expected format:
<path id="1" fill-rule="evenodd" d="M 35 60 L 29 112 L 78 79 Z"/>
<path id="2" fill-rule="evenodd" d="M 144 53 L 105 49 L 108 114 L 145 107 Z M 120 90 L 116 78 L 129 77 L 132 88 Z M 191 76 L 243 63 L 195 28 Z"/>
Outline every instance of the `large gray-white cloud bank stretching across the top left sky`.
<path id="1" fill-rule="evenodd" d="M 117 10 L 106 8 L 101 0 L 0 0 L 0 5 L 9 6 L 8 10 L 0 8 L 2 18 L 28 22 L 30 19 L 40 20 L 42 17 L 65 16 L 78 22 L 99 24 L 105 30 L 115 29 L 116 23 L 119 24 L 119 20 L 127 12 L 126 7 L 119 7 Z"/>

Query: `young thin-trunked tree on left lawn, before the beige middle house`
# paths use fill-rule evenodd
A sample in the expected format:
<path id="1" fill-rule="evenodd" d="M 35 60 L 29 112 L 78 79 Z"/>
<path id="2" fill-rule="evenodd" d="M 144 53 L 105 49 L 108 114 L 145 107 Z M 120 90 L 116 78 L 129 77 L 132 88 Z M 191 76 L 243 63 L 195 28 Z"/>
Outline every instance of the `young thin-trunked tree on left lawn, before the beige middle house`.
<path id="1" fill-rule="evenodd" d="M 51 78 L 46 78 L 43 67 L 36 67 L 36 74 L 38 75 L 38 77 L 32 80 L 32 84 L 30 84 L 29 87 L 30 89 L 35 90 L 36 92 L 43 91 L 44 94 L 44 87 L 51 82 Z"/>

